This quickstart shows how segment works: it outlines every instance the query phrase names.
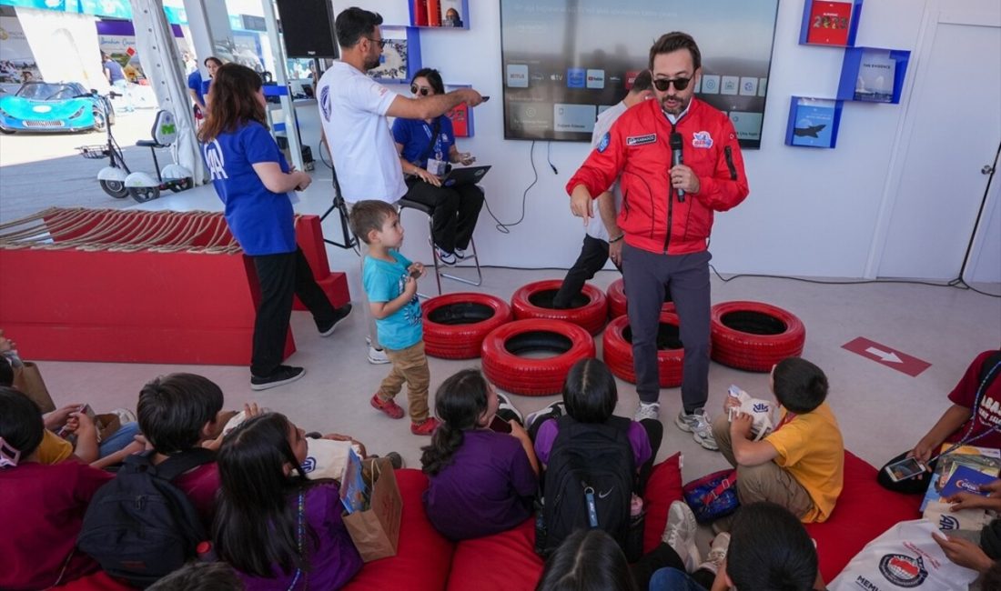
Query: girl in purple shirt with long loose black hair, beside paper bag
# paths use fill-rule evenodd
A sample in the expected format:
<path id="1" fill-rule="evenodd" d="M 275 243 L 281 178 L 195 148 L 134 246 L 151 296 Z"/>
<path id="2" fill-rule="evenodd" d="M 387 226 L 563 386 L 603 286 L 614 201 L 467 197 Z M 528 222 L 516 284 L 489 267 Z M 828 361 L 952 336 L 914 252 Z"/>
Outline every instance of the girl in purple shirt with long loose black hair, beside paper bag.
<path id="1" fill-rule="evenodd" d="M 248 419 L 222 442 L 215 550 L 248 591 L 339 589 L 361 568 L 337 483 L 307 481 L 305 458 L 302 429 L 278 413 Z"/>

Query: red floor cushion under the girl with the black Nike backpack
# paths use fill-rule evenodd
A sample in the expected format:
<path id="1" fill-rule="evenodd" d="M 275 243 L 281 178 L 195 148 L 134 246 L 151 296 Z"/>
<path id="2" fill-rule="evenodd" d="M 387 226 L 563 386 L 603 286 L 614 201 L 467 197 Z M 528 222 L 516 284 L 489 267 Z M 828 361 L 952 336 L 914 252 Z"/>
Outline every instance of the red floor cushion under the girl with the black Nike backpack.
<path id="1" fill-rule="evenodd" d="M 647 483 L 647 523 L 644 547 L 650 550 L 661 542 L 668 521 L 668 507 L 682 498 L 681 454 L 654 467 Z M 475 582 L 477 591 L 532 591 L 543 574 L 543 560 L 535 552 L 535 518 L 517 528 L 455 546 L 448 575 L 448 590 L 462 591 Z M 503 565 L 503 568 L 497 568 Z"/>

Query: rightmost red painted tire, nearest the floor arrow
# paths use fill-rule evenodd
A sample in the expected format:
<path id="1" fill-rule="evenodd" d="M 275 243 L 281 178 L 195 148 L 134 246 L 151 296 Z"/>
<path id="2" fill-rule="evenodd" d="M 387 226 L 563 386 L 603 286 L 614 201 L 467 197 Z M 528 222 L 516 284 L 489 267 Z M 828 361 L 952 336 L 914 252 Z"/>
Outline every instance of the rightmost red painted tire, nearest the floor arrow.
<path id="1" fill-rule="evenodd" d="M 723 365 L 767 372 L 787 357 L 803 353 L 807 330 L 795 315 L 762 302 L 713 306 L 712 358 Z"/>

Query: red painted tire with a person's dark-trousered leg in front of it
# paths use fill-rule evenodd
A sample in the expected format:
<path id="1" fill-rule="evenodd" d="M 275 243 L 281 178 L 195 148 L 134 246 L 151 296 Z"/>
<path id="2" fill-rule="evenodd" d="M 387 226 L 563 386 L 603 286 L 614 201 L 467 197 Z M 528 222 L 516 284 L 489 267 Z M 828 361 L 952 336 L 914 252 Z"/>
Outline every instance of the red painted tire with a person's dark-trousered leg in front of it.
<path id="1" fill-rule="evenodd" d="M 553 296 L 560 291 L 561 285 L 563 281 L 560 279 L 548 279 L 530 283 L 516 291 L 515 295 L 511 296 L 511 309 L 515 313 L 515 318 L 563 320 L 583 326 L 592 335 L 602 332 L 608 314 L 608 300 L 605 293 L 594 285 L 586 283 L 581 295 L 574 298 L 573 303 L 576 307 L 557 310 L 553 308 Z"/>

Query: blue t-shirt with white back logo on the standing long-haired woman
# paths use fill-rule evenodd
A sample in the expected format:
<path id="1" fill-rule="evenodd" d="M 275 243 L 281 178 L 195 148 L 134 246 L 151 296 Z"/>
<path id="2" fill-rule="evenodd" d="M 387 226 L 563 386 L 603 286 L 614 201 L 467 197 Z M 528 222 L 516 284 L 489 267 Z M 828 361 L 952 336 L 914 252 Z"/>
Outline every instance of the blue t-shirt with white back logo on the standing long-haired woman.
<path id="1" fill-rule="evenodd" d="M 277 162 L 281 172 L 288 172 L 285 157 L 264 126 L 248 121 L 202 144 L 202 152 L 215 193 L 226 206 L 226 223 L 243 252 L 251 256 L 294 252 L 288 194 L 268 191 L 253 169 L 260 162 Z"/>

